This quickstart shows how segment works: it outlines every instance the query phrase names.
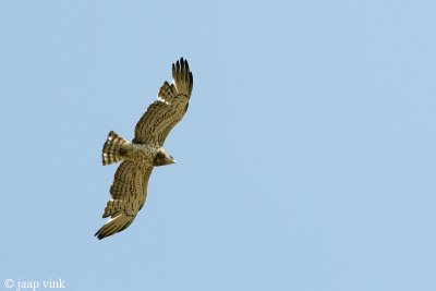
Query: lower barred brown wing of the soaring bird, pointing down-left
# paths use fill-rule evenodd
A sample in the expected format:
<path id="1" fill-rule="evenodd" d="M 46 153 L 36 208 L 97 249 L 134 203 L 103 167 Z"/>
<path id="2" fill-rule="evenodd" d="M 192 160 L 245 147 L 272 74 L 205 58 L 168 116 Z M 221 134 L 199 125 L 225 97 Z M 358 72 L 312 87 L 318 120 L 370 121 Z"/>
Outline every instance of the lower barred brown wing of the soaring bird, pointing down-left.
<path id="1" fill-rule="evenodd" d="M 147 184 L 153 167 L 144 163 L 123 161 L 118 167 L 110 194 L 112 198 L 106 205 L 104 218 L 110 219 L 97 232 L 98 239 L 112 235 L 126 229 L 135 219 L 147 197 Z"/>

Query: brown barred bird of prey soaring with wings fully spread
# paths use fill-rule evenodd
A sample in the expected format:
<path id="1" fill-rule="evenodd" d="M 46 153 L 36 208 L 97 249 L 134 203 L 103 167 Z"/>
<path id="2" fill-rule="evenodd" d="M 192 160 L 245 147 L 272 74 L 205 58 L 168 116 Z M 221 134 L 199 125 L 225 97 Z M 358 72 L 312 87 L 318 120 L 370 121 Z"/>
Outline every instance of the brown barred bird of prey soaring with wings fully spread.
<path id="1" fill-rule="evenodd" d="M 102 165 L 119 161 L 121 165 L 110 187 L 112 198 L 102 214 L 110 219 L 95 234 L 99 240 L 126 229 L 135 219 L 147 197 L 153 168 L 175 162 L 162 146 L 168 133 L 187 110 L 192 86 L 190 66 L 181 58 L 172 64 L 172 84 L 164 83 L 157 100 L 137 122 L 132 143 L 109 132 L 102 147 Z"/>

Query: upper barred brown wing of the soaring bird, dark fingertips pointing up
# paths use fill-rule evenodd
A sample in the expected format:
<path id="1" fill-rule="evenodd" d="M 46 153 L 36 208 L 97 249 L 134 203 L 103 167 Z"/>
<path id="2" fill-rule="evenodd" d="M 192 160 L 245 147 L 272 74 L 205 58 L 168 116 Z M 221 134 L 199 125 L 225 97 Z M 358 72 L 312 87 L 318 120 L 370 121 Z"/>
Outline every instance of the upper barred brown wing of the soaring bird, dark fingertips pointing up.
<path id="1" fill-rule="evenodd" d="M 181 58 L 172 64 L 172 84 L 165 82 L 160 87 L 157 100 L 137 122 L 132 142 L 162 146 L 168 133 L 187 110 L 193 83 L 187 61 Z"/>

